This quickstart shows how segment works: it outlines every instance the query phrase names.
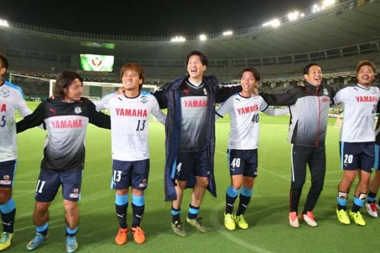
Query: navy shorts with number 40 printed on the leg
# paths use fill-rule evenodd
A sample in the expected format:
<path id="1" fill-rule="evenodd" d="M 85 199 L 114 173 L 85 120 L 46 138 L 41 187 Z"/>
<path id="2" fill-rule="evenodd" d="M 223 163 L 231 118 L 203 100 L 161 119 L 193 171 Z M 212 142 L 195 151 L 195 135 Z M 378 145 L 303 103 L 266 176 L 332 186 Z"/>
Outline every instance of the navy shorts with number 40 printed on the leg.
<path id="1" fill-rule="evenodd" d="M 257 149 L 227 149 L 230 175 L 257 177 Z"/>

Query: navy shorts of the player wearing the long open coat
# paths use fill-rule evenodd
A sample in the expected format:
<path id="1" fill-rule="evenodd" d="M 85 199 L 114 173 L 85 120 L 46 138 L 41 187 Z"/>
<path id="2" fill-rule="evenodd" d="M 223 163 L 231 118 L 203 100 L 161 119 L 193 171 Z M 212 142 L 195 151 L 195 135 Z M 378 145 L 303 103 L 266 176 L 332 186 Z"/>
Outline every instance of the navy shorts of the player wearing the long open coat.
<path id="1" fill-rule="evenodd" d="M 179 181 L 187 181 L 191 174 L 198 177 L 210 175 L 207 151 L 178 153 L 172 168 L 172 178 Z"/>

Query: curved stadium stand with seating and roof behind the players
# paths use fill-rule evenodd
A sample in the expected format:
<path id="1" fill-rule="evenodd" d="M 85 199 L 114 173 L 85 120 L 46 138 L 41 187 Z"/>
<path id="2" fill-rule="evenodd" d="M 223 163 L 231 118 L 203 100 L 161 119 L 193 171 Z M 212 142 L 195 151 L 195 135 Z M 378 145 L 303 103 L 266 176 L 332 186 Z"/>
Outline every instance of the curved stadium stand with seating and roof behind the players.
<path id="1" fill-rule="evenodd" d="M 9 27 L 0 26 L 0 52 L 9 57 L 10 72 L 50 78 L 63 69 L 79 70 L 80 54 L 113 55 L 113 72 L 81 74 L 88 81 L 119 82 L 121 66 L 138 62 L 150 83 L 161 85 L 185 74 L 184 56 L 199 49 L 210 59 L 207 74 L 224 83 L 235 82 L 243 67 L 255 66 L 263 76 L 261 89 L 282 91 L 302 79 L 303 66 L 318 62 L 325 77 L 335 77 L 330 82 L 347 85 L 358 60 L 380 63 L 379 12 L 378 1 L 340 1 L 323 12 L 303 10 L 306 15 L 296 21 L 283 17 L 280 29 L 256 25 L 235 30 L 232 36 L 212 33 L 201 41 L 191 35 L 178 43 L 170 37 L 81 33 L 9 22 Z"/>

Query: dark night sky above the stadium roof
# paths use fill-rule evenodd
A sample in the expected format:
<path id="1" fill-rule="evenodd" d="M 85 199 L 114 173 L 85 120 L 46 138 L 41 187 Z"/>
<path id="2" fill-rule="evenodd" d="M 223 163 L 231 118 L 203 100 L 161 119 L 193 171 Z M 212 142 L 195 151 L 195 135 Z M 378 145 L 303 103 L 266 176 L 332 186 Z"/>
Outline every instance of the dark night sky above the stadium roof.
<path id="1" fill-rule="evenodd" d="M 0 18 L 43 27 L 115 35 L 173 36 L 259 25 L 311 0 L 1 1 Z"/>

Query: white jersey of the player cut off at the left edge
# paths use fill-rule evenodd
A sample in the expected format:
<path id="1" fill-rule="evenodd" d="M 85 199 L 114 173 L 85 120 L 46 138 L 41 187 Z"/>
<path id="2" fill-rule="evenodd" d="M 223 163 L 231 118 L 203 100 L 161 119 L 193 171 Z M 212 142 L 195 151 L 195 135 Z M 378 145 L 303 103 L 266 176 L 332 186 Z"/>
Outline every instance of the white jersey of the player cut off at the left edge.
<path id="1" fill-rule="evenodd" d="M 21 88 L 4 81 L 0 86 L 0 162 L 17 159 L 16 110 L 23 117 L 31 113 Z"/>

